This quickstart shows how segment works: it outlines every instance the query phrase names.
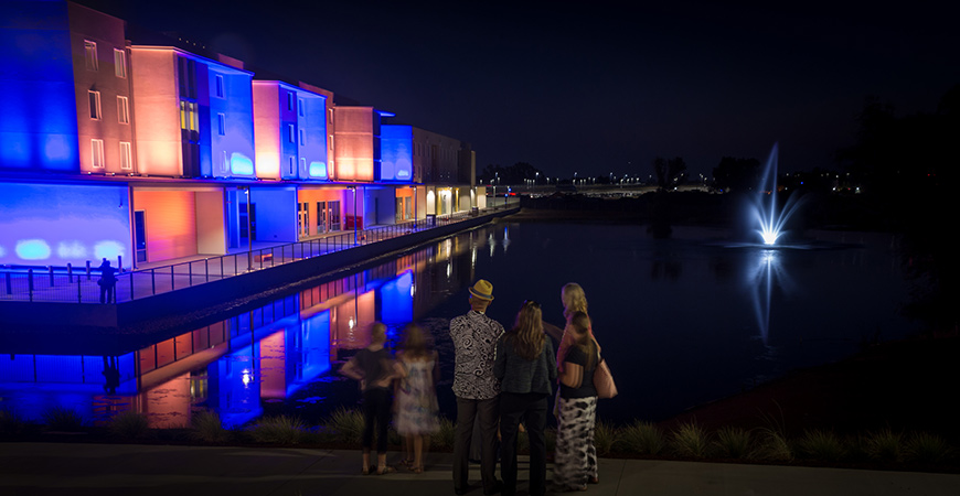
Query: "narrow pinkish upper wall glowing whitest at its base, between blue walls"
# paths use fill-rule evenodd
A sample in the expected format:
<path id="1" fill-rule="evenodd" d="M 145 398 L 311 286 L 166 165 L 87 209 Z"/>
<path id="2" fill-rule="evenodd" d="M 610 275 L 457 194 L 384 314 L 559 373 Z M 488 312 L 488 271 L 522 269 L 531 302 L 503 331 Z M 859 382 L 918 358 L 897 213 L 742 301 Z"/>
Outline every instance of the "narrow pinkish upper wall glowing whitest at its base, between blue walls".
<path id="1" fill-rule="evenodd" d="M 280 179 L 280 114 L 277 82 L 255 80 L 254 140 L 257 177 Z"/>

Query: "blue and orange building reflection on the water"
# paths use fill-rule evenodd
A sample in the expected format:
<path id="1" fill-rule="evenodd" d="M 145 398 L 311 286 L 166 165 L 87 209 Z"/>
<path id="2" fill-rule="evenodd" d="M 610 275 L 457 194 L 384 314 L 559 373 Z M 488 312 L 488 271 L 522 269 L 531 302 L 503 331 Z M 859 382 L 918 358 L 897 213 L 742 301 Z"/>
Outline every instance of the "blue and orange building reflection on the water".
<path id="1" fill-rule="evenodd" d="M 40 420 L 63 407 L 95 423 L 137 411 L 156 428 L 188 427 L 192 412 L 210 409 L 225 427 L 243 424 L 366 346 L 373 321 L 395 336 L 468 285 L 478 236 L 440 240 L 119 356 L 3 355 L 0 408 Z"/>

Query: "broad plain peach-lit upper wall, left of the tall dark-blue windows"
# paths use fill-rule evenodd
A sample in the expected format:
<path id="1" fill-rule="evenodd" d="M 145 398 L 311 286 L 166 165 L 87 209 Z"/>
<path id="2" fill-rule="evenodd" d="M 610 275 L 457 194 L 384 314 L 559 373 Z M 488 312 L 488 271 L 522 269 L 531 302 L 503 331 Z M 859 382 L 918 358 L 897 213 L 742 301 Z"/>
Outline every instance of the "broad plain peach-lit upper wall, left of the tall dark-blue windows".
<path id="1" fill-rule="evenodd" d="M 183 175 L 180 101 L 172 48 L 134 46 L 134 123 L 141 174 Z"/>

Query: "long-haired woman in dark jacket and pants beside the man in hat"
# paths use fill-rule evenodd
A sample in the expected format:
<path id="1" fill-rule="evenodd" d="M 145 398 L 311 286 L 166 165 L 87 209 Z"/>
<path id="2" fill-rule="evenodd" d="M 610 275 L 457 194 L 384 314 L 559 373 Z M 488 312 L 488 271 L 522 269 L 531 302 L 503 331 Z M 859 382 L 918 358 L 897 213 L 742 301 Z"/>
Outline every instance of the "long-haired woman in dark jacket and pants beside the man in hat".
<path id="1" fill-rule="evenodd" d="M 556 380 L 553 344 L 543 333 L 543 312 L 525 301 L 516 324 L 497 342 L 493 376 L 500 379 L 500 473 L 503 495 L 516 493 L 516 433 L 523 420 L 530 440 L 530 495 L 546 492 L 547 398 Z"/>

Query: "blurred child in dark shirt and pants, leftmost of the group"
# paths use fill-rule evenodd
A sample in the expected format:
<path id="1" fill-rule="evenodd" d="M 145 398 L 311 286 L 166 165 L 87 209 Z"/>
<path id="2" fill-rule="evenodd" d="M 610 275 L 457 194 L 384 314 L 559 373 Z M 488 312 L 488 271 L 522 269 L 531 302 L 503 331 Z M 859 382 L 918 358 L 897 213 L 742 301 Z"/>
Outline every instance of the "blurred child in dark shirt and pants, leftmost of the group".
<path id="1" fill-rule="evenodd" d="M 370 450 L 373 448 L 373 427 L 376 424 L 376 474 L 383 475 L 396 470 L 386 464 L 387 427 L 393 398 L 391 382 L 403 377 L 397 363 L 383 347 L 386 343 L 386 325 L 374 322 L 370 326 L 370 346 L 361 349 L 350 359 L 340 373 L 360 381 L 363 391 L 363 474 L 373 472 L 370 466 Z"/>

